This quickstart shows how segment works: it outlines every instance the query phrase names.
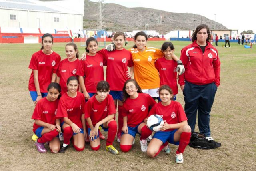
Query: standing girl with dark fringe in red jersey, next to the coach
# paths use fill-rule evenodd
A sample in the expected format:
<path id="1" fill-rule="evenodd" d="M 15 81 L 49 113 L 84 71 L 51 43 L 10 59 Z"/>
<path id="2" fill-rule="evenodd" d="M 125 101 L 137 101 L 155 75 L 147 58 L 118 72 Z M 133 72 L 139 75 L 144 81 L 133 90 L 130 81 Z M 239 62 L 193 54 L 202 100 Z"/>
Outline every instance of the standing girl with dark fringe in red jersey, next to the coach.
<path id="1" fill-rule="evenodd" d="M 177 85 L 177 72 L 176 72 L 176 61 L 172 60 L 172 53 L 174 46 L 171 42 L 164 42 L 161 47 L 164 58 L 158 58 L 155 62 L 155 67 L 159 72 L 160 86 L 168 85 L 173 91 L 173 100 L 176 100 L 176 94 L 178 94 Z M 158 101 L 161 99 L 158 97 Z"/>

